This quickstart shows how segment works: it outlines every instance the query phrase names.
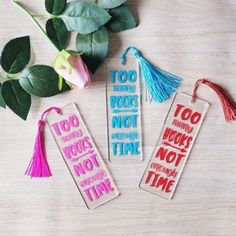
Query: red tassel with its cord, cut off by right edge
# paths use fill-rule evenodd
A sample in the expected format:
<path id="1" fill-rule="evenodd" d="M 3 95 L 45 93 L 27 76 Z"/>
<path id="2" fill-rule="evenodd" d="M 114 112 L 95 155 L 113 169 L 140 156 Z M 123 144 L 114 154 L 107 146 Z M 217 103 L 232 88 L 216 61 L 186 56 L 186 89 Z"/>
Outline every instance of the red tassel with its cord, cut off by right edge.
<path id="1" fill-rule="evenodd" d="M 223 112 L 224 112 L 224 116 L 225 116 L 225 121 L 226 122 L 230 122 L 230 121 L 234 121 L 236 120 L 236 104 L 233 101 L 233 99 L 230 97 L 230 95 L 219 85 L 214 84 L 212 82 L 210 82 L 207 79 L 199 79 L 197 80 L 194 90 L 193 90 L 193 95 L 192 95 L 192 102 L 195 101 L 196 96 L 197 96 L 197 89 L 199 87 L 200 84 L 205 84 L 208 87 L 210 87 L 212 90 L 215 91 L 215 93 L 218 95 L 222 108 L 223 108 Z"/>

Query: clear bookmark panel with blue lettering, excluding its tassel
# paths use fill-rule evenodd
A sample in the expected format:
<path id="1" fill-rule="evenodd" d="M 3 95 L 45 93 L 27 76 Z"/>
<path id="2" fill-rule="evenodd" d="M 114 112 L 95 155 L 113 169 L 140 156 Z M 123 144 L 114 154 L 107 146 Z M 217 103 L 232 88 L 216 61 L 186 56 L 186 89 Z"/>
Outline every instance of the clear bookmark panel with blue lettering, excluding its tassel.
<path id="1" fill-rule="evenodd" d="M 107 125 L 109 160 L 142 160 L 141 80 L 137 62 L 108 59 Z"/>

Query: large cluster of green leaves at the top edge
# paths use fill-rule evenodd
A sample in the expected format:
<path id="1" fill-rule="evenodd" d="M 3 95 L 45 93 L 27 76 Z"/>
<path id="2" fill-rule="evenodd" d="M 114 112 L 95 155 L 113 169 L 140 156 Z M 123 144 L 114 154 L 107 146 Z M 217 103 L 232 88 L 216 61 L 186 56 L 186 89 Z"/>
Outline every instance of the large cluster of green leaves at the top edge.
<path id="1" fill-rule="evenodd" d="M 90 72 L 95 73 L 108 53 L 108 31 L 120 32 L 137 23 L 126 0 L 45 0 L 51 18 L 46 32 L 60 49 L 66 49 L 70 32 L 76 32 L 76 50 Z"/>

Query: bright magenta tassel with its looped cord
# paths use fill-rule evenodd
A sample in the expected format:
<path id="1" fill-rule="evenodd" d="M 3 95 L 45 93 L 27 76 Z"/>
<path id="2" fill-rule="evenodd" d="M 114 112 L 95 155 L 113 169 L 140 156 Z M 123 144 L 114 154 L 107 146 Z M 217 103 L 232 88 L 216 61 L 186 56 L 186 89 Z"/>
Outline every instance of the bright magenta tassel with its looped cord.
<path id="1" fill-rule="evenodd" d="M 48 162 L 45 154 L 44 138 L 43 138 L 43 127 L 45 115 L 51 110 L 55 110 L 60 113 L 60 109 L 57 107 L 50 107 L 41 115 L 41 119 L 38 122 L 38 132 L 35 139 L 35 145 L 33 150 L 32 159 L 26 169 L 25 175 L 35 177 L 50 177 L 52 176 L 51 171 L 48 166 Z"/>

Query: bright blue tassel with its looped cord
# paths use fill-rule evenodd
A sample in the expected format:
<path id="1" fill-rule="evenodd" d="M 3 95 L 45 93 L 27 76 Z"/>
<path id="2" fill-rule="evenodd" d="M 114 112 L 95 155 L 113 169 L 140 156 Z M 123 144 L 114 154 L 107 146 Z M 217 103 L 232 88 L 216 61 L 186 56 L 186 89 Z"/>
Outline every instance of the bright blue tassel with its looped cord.
<path id="1" fill-rule="evenodd" d="M 180 86 L 181 78 L 161 70 L 145 60 L 134 47 L 128 47 L 121 55 L 121 63 L 125 65 L 126 54 L 131 50 L 139 63 L 140 72 L 144 79 L 149 101 L 163 102 Z"/>

